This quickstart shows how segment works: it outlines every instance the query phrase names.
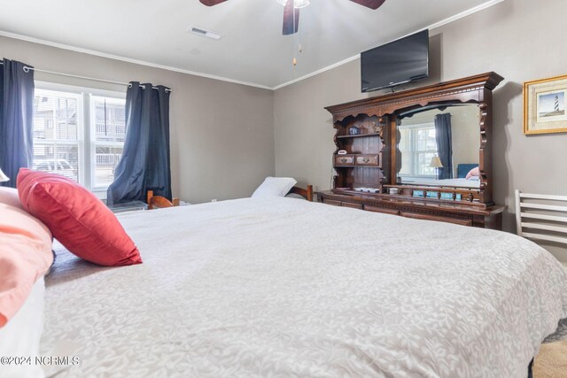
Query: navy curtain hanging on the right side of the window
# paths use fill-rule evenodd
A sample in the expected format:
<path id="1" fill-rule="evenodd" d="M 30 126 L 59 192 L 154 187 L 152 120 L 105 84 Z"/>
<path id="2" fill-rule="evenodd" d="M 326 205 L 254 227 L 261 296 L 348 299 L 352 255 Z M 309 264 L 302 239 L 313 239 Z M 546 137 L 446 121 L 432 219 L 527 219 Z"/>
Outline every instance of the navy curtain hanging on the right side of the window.
<path id="1" fill-rule="evenodd" d="M 106 204 L 144 201 L 148 190 L 171 199 L 169 89 L 130 82 L 126 93 L 126 140 L 108 187 Z"/>

